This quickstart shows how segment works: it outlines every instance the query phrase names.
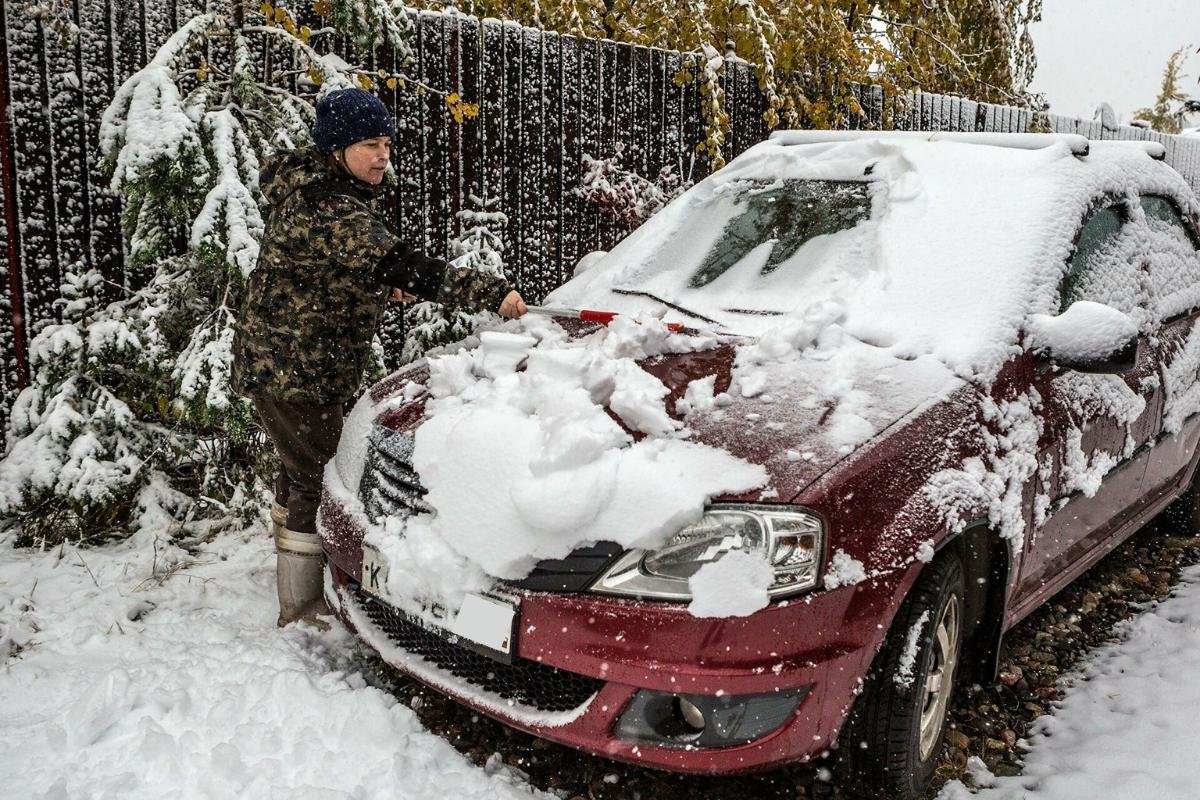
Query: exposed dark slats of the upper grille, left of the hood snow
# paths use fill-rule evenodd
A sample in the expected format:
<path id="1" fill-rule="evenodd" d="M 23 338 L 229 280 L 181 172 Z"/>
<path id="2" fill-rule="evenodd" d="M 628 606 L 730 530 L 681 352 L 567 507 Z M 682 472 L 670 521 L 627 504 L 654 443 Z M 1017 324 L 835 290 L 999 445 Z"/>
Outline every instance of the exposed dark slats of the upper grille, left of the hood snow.
<path id="1" fill-rule="evenodd" d="M 424 499 L 426 489 L 413 469 L 415 443 L 410 431 L 401 433 L 380 425 L 371 431 L 359 499 L 372 522 L 385 517 L 407 519 L 430 511 Z"/>

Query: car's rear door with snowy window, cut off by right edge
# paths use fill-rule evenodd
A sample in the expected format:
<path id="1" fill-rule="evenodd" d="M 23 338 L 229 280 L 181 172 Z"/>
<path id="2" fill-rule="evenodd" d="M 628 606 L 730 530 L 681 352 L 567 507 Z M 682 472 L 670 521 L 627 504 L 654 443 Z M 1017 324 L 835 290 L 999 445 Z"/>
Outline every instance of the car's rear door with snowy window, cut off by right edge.
<path id="1" fill-rule="evenodd" d="M 1175 198 L 1139 198 L 1145 225 L 1151 306 L 1159 326 L 1153 341 L 1162 369 L 1163 435 L 1146 469 L 1148 491 L 1174 486 L 1196 446 L 1200 413 L 1200 235 Z"/>

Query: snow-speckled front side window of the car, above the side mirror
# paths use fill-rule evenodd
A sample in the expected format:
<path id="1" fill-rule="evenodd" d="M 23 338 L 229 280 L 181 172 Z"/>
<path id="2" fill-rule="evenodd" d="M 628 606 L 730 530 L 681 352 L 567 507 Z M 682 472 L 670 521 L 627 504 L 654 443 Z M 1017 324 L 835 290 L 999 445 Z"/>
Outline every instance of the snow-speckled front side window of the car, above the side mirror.
<path id="1" fill-rule="evenodd" d="M 1146 296 L 1135 237 L 1127 230 L 1126 206 L 1112 204 L 1092 213 L 1075 241 L 1062 282 L 1060 311 L 1078 300 L 1111 306 L 1139 319 Z"/>

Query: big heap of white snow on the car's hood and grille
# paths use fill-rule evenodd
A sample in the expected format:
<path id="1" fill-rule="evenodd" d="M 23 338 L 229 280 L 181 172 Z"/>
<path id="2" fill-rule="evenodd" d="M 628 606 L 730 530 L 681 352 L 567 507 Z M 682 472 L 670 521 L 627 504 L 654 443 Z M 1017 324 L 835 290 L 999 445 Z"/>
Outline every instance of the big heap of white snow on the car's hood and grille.
<path id="1" fill-rule="evenodd" d="M 618 318 L 570 339 L 527 318 L 432 359 L 412 461 L 436 513 L 391 517 L 366 535 L 390 565 L 389 599 L 415 613 L 454 609 L 464 593 L 588 542 L 658 547 L 709 498 L 762 486 L 762 467 L 688 441 L 667 387 L 637 365 L 714 343 L 655 319 Z M 360 425 L 347 426 L 342 450 L 361 446 Z"/>

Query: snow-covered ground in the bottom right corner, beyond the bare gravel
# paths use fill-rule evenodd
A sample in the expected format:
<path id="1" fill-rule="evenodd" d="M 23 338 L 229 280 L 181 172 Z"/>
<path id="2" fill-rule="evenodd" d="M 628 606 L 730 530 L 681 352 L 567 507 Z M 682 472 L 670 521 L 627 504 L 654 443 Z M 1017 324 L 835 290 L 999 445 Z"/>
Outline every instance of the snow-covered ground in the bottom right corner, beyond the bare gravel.
<path id="1" fill-rule="evenodd" d="M 1028 741 L 1024 775 L 994 778 L 983 768 L 976 775 L 985 788 L 972 794 L 952 783 L 938 800 L 1200 796 L 1200 566 L 1070 680 Z"/>

